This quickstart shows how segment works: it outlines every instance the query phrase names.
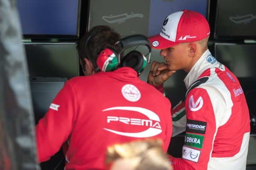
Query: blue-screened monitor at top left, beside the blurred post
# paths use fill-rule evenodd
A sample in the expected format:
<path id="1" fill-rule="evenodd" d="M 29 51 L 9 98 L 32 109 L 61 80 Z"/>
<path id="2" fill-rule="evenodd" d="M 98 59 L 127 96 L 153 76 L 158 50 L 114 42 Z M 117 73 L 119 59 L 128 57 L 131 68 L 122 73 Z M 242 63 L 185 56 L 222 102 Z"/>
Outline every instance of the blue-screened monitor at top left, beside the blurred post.
<path id="1" fill-rule="evenodd" d="M 81 0 L 17 0 L 24 38 L 79 37 Z"/>

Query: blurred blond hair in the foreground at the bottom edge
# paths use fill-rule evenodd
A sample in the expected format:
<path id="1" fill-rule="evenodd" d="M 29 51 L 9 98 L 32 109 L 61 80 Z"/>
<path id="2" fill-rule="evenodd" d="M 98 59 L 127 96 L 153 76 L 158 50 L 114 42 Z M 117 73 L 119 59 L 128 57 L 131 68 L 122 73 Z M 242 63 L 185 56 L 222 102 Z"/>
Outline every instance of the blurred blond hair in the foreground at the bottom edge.
<path id="1" fill-rule="evenodd" d="M 172 170 L 160 139 L 146 139 L 114 144 L 107 149 L 108 170 Z"/>

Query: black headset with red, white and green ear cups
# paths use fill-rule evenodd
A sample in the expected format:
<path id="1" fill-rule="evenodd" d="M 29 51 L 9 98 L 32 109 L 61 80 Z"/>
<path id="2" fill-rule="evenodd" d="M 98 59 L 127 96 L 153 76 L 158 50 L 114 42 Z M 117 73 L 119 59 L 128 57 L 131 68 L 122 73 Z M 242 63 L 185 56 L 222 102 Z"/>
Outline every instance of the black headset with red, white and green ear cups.
<path id="1" fill-rule="evenodd" d="M 99 32 L 99 28 L 95 28 L 90 32 L 90 35 L 86 40 L 85 47 L 90 37 L 96 35 L 98 32 Z M 87 55 L 87 52 L 86 52 L 88 59 L 91 61 L 91 63 L 95 67 L 94 69 L 95 72 L 98 72 L 100 70 L 102 70 L 103 72 L 109 72 L 109 71 L 115 70 L 118 66 L 119 67 L 128 66 L 133 68 L 138 73 L 138 75 L 140 75 L 144 67 L 150 62 L 151 43 L 148 40 L 148 38 L 145 37 L 144 35 L 131 35 L 131 36 L 122 38 L 121 40 L 116 42 L 116 44 L 118 43 L 120 43 L 122 47 L 120 52 L 117 53 L 115 52 L 114 49 L 110 47 L 102 50 L 102 52 L 100 52 L 96 60 L 97 64 Z M 129 52 L 120 61 L 120 55 L 122 52 L 125 51 L 125 49 L 128 49 L 132 46 L 139 46 L 139 45 L 145 45 L 148 47 L 148 51 L 149 51 L 148 61 L 141 52 L 138 52 L 136 50 Z"/>

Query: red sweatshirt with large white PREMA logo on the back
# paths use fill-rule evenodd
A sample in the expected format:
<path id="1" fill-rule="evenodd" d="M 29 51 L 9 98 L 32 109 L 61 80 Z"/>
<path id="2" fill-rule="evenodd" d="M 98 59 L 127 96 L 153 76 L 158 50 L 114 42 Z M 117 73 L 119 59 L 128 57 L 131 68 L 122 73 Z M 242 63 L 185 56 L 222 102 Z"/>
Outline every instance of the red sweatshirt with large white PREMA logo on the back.
<path id="1" fill-rule="evenodd" d="M 170 109 L 168 98 L 129 67 L 72 78 L 36 126 L 39 162 L 65 141 L 65 170 L 104 170 L 108 146 L 137 139 L 161 138 L 167 151 Z"/>

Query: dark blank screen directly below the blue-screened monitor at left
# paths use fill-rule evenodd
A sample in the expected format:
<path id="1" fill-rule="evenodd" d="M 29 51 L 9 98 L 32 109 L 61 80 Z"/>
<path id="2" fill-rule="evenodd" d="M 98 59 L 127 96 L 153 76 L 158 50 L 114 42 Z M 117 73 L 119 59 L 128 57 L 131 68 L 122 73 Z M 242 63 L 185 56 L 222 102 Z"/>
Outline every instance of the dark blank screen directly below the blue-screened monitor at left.
<path id="1" fill-rule="evenodd" d="M 23 43 L 29 76 L 79 76 L 79 56 L 76 43 Z"/>

